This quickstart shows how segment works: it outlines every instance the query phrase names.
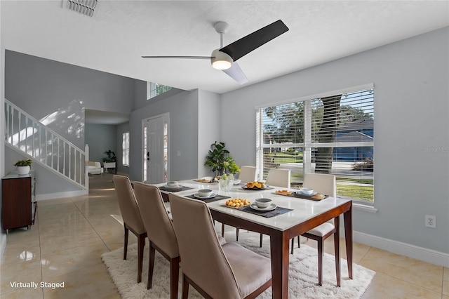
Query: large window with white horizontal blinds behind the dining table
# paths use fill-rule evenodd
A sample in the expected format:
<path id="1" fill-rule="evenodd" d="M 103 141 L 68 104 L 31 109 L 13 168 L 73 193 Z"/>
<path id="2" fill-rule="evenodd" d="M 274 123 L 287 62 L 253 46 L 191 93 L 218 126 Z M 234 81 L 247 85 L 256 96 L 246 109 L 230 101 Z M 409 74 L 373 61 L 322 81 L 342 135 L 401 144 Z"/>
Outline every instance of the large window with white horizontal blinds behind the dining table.
<path id="1" fill-rule="evenodd" d="M 257 167 L 337 178 L 337 197 L 374 200 L 374 88 L 349 89 L 257 109 Z"/>

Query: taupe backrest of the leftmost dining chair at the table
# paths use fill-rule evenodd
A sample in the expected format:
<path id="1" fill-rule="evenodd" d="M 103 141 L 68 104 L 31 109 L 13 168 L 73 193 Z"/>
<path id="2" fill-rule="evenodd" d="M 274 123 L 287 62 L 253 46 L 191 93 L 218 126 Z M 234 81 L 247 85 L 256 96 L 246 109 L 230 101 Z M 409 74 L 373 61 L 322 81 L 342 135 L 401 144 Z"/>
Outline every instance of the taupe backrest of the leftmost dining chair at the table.
<path id="1" fill-rule="evenodd" d="M 129 178 L 123 175 L 114 175 L 112 180 L 114 180 L 115 192 L 119 201 L 123 222 L 135 233 L 143 234 L 145 227 L 140 217 L 138 203 L 135 201 L 133 187 Z"/>

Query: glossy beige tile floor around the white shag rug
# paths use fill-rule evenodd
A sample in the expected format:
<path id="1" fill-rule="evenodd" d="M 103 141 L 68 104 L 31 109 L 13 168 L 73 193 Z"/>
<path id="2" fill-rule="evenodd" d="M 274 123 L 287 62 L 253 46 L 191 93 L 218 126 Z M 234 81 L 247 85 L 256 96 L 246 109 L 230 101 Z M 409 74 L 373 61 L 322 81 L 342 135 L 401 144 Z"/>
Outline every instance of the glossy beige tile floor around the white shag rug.
<path id="1" fill-rule="evenodd" d="M 90 185 L 88 196 L 39 201 L 31 230 L 10 231 L 1 260 L 0 298 L 120 298 L 100 258 L 123 246 L 112 175 L 95 175 Z M 130 234 L 130 243 L 135 241 Z M 333 254 L 332 238 L 325 250 Z M 448 268 L 363 244 L 354 244 L 354 263 L 377 272 L 362 298 L 449 299 Z M 13 281 L 43 281 L 50 287 L 14 288 Z M 64 288 L 51 288 L 62 281 Z"/>

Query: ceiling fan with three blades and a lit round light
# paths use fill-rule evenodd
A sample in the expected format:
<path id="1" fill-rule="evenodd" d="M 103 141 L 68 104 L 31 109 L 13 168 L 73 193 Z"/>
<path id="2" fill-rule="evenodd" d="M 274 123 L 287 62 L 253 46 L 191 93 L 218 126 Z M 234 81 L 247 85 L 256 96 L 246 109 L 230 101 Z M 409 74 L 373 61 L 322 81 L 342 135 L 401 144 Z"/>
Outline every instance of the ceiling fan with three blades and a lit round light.
<path id="1" fill-rule="evenodd" d="M 239 84 L 244 84 L 248 82 L 248 79 L 236 60 L 288 31 L 288 27 L 281 20 L 277 20 L 224 47 L 223 34 L 229 27 L 228 23 L 216 22 L 213 27 L 220 33 L 220 48 L 212 51 L 210 56 L 142 56 L 142 58 L 210 59 L 213 68 L 221 69 Z"/>

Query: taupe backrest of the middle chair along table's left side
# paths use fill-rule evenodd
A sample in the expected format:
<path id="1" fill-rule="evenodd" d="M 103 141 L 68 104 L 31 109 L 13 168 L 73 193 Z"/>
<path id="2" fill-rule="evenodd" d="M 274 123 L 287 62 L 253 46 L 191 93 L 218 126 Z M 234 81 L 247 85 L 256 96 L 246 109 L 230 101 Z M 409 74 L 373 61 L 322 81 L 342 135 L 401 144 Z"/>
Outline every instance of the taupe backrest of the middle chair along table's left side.
<path id="1" fill-rule="evenodd" d="M 175 230 L 163 204 L 159 188 L 143 182 L 134 182 L 134 193 L 148 239 L 170 258 L 179 256 Z"/>

